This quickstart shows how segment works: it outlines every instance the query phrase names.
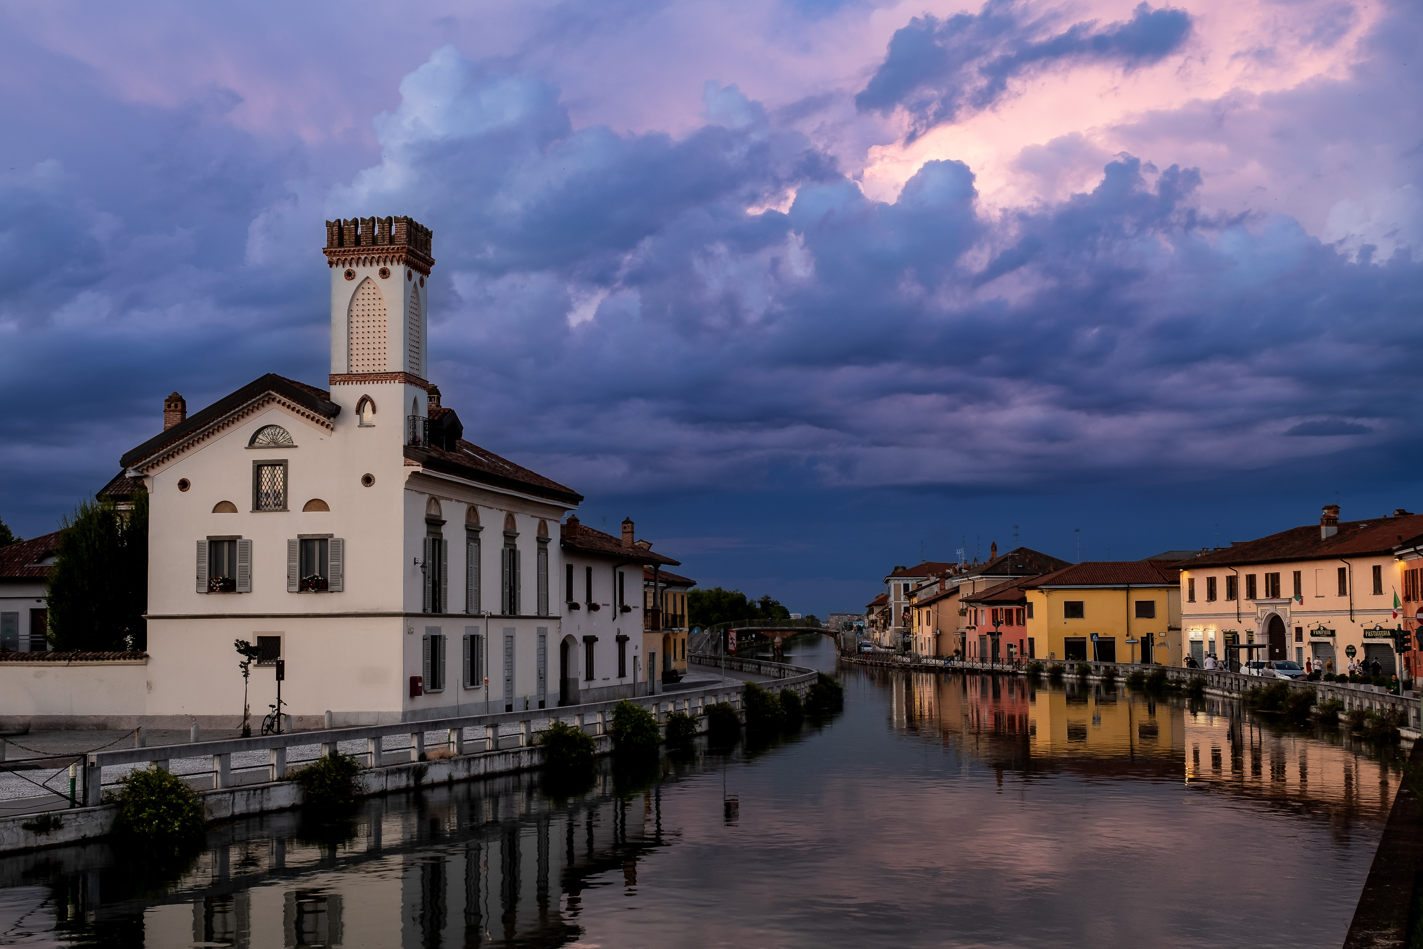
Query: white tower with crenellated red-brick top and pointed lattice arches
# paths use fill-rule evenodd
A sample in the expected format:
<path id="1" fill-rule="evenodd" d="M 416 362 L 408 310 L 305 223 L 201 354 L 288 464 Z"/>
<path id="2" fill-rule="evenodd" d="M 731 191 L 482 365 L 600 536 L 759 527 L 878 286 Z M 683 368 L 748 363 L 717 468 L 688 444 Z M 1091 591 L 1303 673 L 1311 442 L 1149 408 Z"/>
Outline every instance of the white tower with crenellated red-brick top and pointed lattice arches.
<path id="1" fill-rule="evenodd" d="M 332 272 L 332 400 L 353 411 L 361 425 L 374 425 L 377 413 L 383 423 L 425 414 L 425 280 L 434 266 L 433 236 L 411 218 L 326 222 L 322 252 Z"/>

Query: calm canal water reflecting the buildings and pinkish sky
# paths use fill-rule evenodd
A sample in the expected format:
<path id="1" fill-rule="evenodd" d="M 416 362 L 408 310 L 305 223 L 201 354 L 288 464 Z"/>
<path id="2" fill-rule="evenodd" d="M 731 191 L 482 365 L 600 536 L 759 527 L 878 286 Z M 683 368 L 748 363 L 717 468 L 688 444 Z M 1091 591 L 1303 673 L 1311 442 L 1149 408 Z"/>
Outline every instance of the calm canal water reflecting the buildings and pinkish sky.
<path id="1" fill-rule="evenodd" d="M 835 670 L 827 637 L 787 660 Z M 0 859 L 17 946 L 1338 946 L 1397 751 L 1234 703 L 842 667 L 781 740 Z"/>

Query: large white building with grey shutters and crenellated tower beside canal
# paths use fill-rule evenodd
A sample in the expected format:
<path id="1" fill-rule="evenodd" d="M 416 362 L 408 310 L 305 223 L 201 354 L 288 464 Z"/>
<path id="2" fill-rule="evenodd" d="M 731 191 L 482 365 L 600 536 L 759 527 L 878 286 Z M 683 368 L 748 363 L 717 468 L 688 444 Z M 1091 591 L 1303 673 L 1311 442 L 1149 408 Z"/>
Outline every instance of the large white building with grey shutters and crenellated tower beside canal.
<path id="1" fill-rule="evenodd" d="M 231 727 L 236 639 L 263 650 L 253 709 L 282 659 L 307 724 L 636 691 L 622 626 L 640 630 L 640 598 L 613 586 L 616 559 L 635 585 L 676 561 L 565 556 L 552 528 L 582 497 L 462 440 L 427 381 L 430 230 L 327 222 L 324 253 L 329 388 L 268 374 L 192 415 L 175 393 L 162 434 L 122 458 L 149 491 L 148 714 Z M 592 583 L 581 600 L 575 578 Z"/>

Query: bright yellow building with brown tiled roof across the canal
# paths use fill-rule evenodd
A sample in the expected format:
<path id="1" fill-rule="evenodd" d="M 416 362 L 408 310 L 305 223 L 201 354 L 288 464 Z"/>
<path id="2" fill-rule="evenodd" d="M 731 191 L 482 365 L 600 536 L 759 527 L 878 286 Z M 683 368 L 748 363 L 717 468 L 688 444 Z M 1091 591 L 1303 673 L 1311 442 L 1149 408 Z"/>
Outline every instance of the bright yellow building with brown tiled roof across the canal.
<path id="1" fill-rule="evenodd" d="M 1026 580 L 1029 654 L 1181 664 L 1180 573 L 1157 561 L 1101 561 Z"/>

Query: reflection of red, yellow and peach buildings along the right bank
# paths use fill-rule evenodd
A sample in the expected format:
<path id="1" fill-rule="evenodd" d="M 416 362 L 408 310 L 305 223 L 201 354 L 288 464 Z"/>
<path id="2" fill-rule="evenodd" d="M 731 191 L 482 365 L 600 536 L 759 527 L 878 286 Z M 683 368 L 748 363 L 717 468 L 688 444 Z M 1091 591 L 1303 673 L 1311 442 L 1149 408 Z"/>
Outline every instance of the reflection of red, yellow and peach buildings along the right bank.
<path id="1" fill-rule="evenodd" d="M 1017 676 L 882 674 L 896 727 L 995 768 L 1184 781 L 1332 820 L 1383 821 L 1400 756 L 1335 726 L 1295 726 L 1237 701 Z"/>

